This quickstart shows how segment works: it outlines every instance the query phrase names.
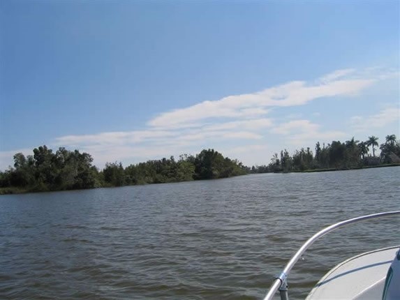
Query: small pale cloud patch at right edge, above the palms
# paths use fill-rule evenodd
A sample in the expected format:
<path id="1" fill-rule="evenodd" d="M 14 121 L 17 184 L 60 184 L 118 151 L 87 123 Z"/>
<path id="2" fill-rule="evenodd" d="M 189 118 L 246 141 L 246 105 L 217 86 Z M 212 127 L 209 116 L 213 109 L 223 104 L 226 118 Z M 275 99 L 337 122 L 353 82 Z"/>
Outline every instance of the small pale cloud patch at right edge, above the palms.
<path id="1" fill-rule="evenodd" d="M 370 132 L 373 128 L 383 128 L 393 122 L 397 122 L 397 128 L 400 128 L 399 107 L 387 107 L 378 114 L 367 117 L 354 116 L 350 119 L 351 126 L 356 132 Z"/>

